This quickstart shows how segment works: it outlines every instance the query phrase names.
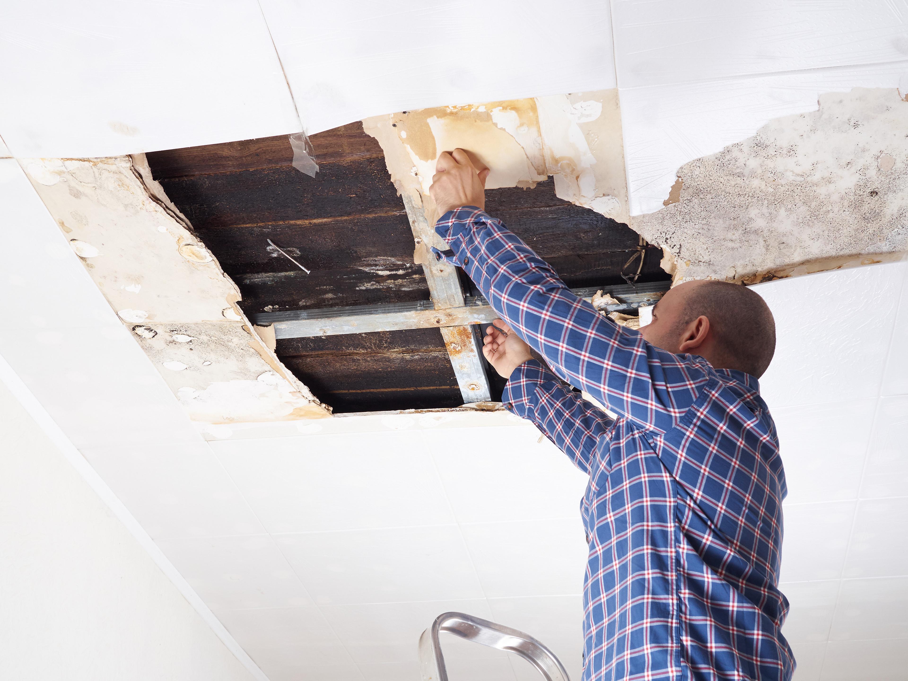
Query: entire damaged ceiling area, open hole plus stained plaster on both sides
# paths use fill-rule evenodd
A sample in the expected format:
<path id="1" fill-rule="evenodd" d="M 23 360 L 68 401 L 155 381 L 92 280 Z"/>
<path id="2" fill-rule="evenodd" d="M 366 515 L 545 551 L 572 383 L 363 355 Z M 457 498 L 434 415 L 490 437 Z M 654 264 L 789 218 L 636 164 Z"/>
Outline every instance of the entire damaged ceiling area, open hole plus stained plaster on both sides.
<path id="1" fill-rule="evenodd" d="M 428 256 L 439 153 L 476 153 L 493 169 L 487 210 L 578 294 L 633 314 L 673 276 L 902 257 L 908 104 L 885 89 L 820 104 L 687 163 L 666 207 L 634 217 L 615 90 L 350 123 L 312 136 L 314 177 L 285 135 L 23 164 L 192 419 L 494 409 L 503 381 L 479 333 L 494 311 Z"/>

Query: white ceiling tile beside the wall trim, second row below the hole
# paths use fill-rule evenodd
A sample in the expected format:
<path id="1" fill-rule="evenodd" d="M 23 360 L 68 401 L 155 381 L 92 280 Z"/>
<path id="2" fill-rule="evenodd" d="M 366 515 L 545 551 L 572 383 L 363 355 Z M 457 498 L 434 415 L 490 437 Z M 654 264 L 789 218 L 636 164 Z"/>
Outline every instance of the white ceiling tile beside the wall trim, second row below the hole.
<path id="1" fill-rule="evenodd" d="M 215 615 L 235 608 L 312 605 L 269 535 L 156 543 Z"/>

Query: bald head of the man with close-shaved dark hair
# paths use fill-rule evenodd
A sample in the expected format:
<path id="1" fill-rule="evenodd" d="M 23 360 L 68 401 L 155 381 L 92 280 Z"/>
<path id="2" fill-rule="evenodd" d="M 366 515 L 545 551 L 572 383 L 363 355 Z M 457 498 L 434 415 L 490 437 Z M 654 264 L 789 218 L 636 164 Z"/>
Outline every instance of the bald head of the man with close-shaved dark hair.
<path id="1" fill-rule="evenodd" d="M 759 378 L 775 353 L 775 320 L 755 291 L 725 281 L 687 281 L 668 291 L 644 338 L 670 352 L 706 358 L 716 369 Z"/>

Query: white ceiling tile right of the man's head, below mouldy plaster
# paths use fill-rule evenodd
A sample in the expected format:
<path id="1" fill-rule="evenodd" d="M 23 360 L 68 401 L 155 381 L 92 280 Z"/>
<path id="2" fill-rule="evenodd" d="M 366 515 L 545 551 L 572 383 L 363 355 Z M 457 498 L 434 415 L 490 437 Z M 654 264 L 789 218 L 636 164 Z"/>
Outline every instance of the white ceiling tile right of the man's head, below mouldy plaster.
<path id="1" fill-rule="evenodd" d="M 879 394 L 902 268 L 887 262 L 752 287 L 775 317 L 775 358 L 760 379 L 770 410 Z M 873 314 L 847 323 L 847 310 Z"/>

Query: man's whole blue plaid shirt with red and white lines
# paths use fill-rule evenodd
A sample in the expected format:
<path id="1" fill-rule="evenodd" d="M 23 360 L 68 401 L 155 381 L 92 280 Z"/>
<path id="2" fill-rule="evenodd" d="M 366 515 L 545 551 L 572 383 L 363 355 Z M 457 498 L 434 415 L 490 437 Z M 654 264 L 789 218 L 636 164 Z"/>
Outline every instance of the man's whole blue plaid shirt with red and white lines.
<path id="1" fill-rule="evenodd" d="M 555 371 L 521 365 L 505 406 L 589 474 L 583 678 L 790 679 L 785 472 L 756 379 L 619 327 L 478 208 L 435 229 L 449 244 L 436 257 L 467 271 Z"/>

